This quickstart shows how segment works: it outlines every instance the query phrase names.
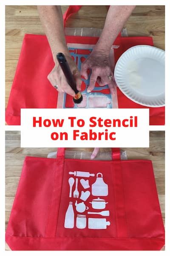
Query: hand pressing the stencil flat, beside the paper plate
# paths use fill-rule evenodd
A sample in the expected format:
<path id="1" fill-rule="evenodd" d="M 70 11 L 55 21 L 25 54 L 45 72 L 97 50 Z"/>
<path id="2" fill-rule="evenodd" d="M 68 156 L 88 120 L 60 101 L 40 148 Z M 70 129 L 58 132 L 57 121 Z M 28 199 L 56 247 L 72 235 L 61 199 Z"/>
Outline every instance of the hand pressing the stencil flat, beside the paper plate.
<path id="1" fill-rule="evenodd" d="M 111 93 L 114 94 L 116 82 L 113 77 L 113 67 L 111 67 L 109 56 L 106 53 L 94 49 L 89 57 L 82 63 L 81 75 L 84 76 L 85 79 L 88 79 L 88 69 L 91 69 L 88 93 L 94 89 L 95 83 L 97 82 L 100 86 L 108 84 Z M 112 78 L 109 79 L 108 76 Z"/>

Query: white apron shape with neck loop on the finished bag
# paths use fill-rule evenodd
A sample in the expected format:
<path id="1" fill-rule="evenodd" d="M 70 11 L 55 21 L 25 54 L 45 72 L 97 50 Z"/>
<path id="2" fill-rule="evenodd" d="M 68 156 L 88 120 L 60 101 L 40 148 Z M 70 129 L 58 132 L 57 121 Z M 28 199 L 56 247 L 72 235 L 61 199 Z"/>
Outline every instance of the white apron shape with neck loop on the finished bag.
<path id="1" fill-rule="evenodd" d="M 99 177 L 99 175 L 101 177 Z M 107 196 L 108 195 L 108 185 L 103 180 L 103 175 L 101 172 L 97 173 L 96 181 L 91 186 L 91 193 L 95 196 Z"/>

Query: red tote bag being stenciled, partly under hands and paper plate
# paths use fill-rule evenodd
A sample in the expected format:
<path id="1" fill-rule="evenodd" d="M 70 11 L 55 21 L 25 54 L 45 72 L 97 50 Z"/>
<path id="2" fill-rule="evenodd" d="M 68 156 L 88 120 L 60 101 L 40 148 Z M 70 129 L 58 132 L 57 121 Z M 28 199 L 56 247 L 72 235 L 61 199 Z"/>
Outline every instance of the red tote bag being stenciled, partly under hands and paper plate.
<path id="1" fill-rule="evenodd" d="M 68 17 L 77 12 L 81 6 L 70 6 L 64 15 L 64 24 Z M 67 43 L 96 44 L 99 38 L 66 36 Z M 151 37 L 121 37 L 116 38 L 114 45 L 115 62 L 123 52 L 130 47 L 146 44 L 153 46 Z M 57 108 L 57 90 L 51 86 L 47 79 L 54 67 L 46 36 L 25 35 L 20 58 L 17 65 L 11 93 L 6 109 L 6 122 L 8 125 L 20 125 L 21 108 Z M 117 88 L 119 108 L 147 108 L 128 99 Z M 68 97 L 69 98 L 69 97 Z M 164 125 L 164 107 L 149 108 L 150 125 Z"/>

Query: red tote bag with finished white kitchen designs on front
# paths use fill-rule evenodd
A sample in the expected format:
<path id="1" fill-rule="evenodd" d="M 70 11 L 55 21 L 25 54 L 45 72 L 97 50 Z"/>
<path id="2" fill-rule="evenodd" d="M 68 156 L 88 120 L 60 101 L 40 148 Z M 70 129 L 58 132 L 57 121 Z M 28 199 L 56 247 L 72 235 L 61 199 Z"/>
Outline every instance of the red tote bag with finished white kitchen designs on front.
<path id="1" fill-rule="evenodd" d="M 120 160 L 118 148 L 111 161 L 65 159 L 64 151 L 26 157 L 6 230 L 11 250 L 160 250 L 152 162 Z"/>

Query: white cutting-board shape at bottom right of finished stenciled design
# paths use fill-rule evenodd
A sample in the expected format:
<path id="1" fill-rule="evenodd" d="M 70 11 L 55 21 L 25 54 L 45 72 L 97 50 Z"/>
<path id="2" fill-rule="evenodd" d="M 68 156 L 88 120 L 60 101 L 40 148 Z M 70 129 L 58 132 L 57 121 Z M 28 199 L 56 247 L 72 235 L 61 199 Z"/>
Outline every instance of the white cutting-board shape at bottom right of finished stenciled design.
<path id="1" fill-rule="evenodd" d="M 106 221 L 106 218 L 88 218 L 89 229 L 107 229 L 110 224 L 110 221 Z"/>

